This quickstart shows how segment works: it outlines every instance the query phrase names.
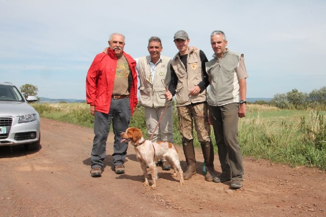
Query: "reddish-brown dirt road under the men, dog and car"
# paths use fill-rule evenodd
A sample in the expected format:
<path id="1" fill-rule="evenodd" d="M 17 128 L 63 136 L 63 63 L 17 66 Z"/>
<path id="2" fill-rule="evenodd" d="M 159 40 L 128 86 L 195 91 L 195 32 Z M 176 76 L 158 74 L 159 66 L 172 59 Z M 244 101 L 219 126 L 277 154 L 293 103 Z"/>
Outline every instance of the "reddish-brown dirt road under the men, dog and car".
<path id="1" fill-rule="evenodd" d="M 0 216 L 326 216 L 326 173 L 317 169 L 245 158 L 244 187 L 231 190 L 204 181 L 200 172 L 180 186 L 179 176 L 158 167 L 158 187 L 152 190 L 142 185 L 131 145 L 126 174 L 111 170 L 112 133 L 101 178 L 90 175 L 92 129 L 42 119 L 41 134 L 35 152 L 0 147 Z M 179 153 L 185 169 L 181 147 Z M 201 171 L 200 150 L 196 156 Z M 215 169 L 220 172 L 217 155 Z"/>

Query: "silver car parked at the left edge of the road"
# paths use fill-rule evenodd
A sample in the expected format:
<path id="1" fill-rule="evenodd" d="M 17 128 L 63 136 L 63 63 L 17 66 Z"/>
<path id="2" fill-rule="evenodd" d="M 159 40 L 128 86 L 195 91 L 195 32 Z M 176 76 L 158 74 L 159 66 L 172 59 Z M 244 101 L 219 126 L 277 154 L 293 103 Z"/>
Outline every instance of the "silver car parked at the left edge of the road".
<path id="1" fill-rule="evenodd" d="M 40 119 L 28 102 L 36 96 L 24 98 L 20 90 L 9 82 L 0 83 L 0 146 L 24 145 L 37 150 L 40 145 Z"/>

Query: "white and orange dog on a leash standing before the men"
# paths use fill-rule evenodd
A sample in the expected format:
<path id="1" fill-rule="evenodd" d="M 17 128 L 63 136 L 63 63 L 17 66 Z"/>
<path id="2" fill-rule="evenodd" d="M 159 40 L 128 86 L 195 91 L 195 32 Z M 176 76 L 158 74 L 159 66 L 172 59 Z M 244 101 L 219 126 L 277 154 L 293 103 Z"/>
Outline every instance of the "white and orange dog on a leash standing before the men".
<path id="1" fill-rule="evenodd" d="M 123 140 L 121 142 L 130 141 L 131 145 L 135 147 L 136 156 L 138 162 L 141 164 L 144 171 L 145 182 L 144 186 L 148 186 L 148 174 L 147 166 L 150 169 L 153 184 L 151 188 L 156 188 L 156 164 L 162 158 L 165 158 L 174 169 L 174 177 L 178 176 L 177 170 L 180 173 L 180 185 L 184 185 L 183 172 L 180 166 L 178 150 L 172 143 L 169 142 L 158 142 L 154 143 L 150 140 L 145 140 L 143 133 L 139 128 L 130 127 L 127 128 L 126 132 L 121 133 Z"/>

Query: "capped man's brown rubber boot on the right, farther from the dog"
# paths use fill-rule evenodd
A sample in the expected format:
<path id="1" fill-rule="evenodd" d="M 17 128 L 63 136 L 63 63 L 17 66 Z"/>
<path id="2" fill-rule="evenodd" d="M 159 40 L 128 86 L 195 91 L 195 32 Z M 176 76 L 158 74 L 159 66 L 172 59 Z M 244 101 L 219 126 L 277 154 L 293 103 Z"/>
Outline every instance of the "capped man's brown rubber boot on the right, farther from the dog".
<path id="1" fill-rule="evenodd" d="M 204 162 L 206 165 L 206 181 L 213 181 L 213 178 L 215 177 L 214 172 L 214 147 L 212 144 L 212 141 L 210 142 L 201 142 L 200 143 L 202 154 L 204 156 Z"/>

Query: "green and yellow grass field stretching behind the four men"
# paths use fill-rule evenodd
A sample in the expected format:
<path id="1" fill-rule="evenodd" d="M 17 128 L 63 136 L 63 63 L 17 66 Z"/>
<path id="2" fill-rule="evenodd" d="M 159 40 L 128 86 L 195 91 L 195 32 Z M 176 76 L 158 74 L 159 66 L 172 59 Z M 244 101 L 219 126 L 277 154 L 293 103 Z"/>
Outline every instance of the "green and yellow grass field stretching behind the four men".
<path id="1" fill-rule="evenodd" d="M 93 127 L 94 117 L 85 103 L 33 104 L 41 117 Z M 326 112 L 282 110 L 265 105 L 247 105 L 247 117 L 239 119 L 239 143 L 243 156 L 268 159 L 292 166 L 316 166 L 326 170 Z M 174 142 L 181 145 L 179 119 L 174 105 Z M 137 106 L 130 127 L 147 128 L 144 108 Z M 111 131 L 111 130 L 110 130 Z M 215 135 L 212 141 L 217 153 Z M 200 147 L 194 130 L 194 144 Z"/>

